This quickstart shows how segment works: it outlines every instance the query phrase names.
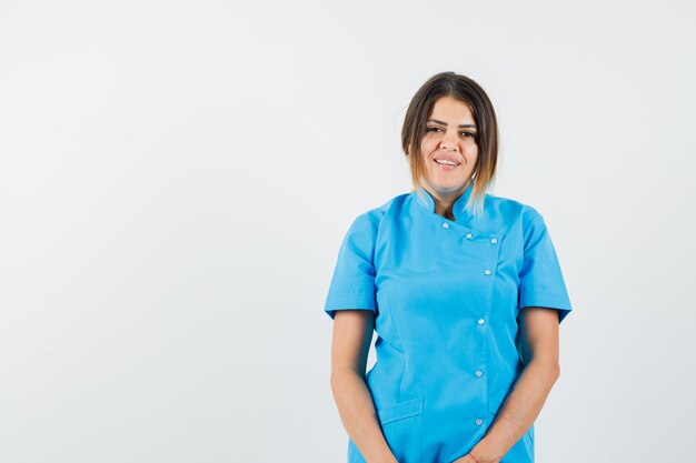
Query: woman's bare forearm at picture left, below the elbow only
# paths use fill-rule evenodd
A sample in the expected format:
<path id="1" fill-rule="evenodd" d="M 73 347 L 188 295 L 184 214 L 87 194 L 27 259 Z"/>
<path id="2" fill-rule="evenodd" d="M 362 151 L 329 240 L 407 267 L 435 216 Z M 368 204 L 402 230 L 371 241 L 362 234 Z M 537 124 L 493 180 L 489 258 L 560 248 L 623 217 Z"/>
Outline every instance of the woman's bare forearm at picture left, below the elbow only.
<path id="1" fill-rule="evenodd" d="M 350 369 L 334 371 L 331 391 L 344 427 L 367 463 L 397 463 L 381 433 L 364 378 Z"/>

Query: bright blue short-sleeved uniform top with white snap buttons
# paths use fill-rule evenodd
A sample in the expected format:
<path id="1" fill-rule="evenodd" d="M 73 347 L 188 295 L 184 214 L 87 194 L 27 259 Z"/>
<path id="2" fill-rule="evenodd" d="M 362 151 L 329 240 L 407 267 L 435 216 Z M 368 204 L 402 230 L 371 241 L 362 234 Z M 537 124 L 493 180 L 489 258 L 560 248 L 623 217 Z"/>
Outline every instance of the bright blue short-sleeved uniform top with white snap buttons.
<path id="1" fill-rule="evenodd" d="M 375 312 L 367 372 L 379 423 L 399 463 L 451 463 L 486 434 L 523 370 L 519 311 L 570 312 L 543 217 L 486 194 L 484 214 L 455 201 L 456 221 L 421 189 L 358 215 L 346 233 L 325 312 Z M 348 462 L 364 463 L 348 439 Z M 534 462 L 534 425 L 501 463 Z"/>

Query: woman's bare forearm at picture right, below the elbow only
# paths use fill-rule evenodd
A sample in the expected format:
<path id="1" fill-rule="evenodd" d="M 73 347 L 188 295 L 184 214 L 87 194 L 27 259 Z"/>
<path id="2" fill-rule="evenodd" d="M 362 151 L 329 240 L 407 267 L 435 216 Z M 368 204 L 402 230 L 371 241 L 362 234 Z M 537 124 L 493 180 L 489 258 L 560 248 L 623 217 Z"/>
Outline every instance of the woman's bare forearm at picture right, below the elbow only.
<path id="1" fill-rule="evenodd" d="M 494 461 L 501 459 L 531 427 L 558 375 L 557 363 L 531 360 L 520 373 L 493 425 L 471 453 Z"/>

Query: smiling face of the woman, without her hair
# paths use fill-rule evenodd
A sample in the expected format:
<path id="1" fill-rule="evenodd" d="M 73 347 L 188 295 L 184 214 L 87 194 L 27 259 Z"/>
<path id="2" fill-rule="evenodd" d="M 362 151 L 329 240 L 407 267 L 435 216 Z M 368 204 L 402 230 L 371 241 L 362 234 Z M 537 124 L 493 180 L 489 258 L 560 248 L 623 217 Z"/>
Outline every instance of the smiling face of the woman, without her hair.
<path id="1" fill-rule="evenodd" d="M 476 133 L 474 114 L 467 103 L 451 97 L 435 102 L 421 151 L 425 184 L 436 197 L 458 195 L 468 187 L 478 157 Z"/>

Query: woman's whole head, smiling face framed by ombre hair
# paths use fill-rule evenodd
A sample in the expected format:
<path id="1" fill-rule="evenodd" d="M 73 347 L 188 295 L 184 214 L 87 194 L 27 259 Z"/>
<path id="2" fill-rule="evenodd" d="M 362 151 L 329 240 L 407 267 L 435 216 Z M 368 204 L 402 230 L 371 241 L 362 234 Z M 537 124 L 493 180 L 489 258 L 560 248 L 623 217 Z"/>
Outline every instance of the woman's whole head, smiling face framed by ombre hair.
<path id="1" fill-rule="evenodd" d="M 414 190 L 425 188 L 432 194 L 437 213 L 450 215 L 446 205 L 451 205 L 474 178 L 478 181 L 467 209 L 474 215 L 483 213 L 485 192 L 498 161 L 498 122 L 490 99 L 478 83 L 454 72 L 430 78 L 406 112 L 401 147 L 410 161 Z M 457 165 L 445 167 L 437 160 Z"/>

